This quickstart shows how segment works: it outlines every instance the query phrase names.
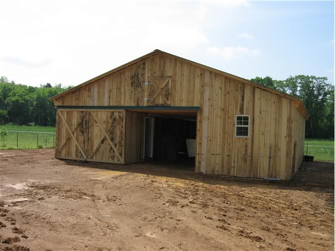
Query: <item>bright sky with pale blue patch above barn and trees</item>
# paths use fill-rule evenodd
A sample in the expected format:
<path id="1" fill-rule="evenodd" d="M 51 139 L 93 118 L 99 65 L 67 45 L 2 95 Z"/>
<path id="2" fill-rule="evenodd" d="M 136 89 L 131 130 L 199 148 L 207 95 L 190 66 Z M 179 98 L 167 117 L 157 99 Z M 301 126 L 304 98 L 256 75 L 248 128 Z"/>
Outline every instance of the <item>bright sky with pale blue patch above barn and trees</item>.
<path id="1" fill-rule="evenodd" d="M 1 0 L 0 76 L 75 86 L 160 49 L 251 79 L 334 84 L 334 1 Z"/>

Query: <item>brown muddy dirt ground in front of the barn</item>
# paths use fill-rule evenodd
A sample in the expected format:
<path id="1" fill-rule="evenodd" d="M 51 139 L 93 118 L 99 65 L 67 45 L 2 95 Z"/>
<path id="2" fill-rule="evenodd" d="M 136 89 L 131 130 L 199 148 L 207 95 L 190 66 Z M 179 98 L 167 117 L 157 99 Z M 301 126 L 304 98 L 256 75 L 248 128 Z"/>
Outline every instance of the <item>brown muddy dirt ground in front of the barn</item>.
<path id="1" fill-rule="evenodd" d="M 334 250 L 334 189 L 0 151 L 1 250 Z"/>

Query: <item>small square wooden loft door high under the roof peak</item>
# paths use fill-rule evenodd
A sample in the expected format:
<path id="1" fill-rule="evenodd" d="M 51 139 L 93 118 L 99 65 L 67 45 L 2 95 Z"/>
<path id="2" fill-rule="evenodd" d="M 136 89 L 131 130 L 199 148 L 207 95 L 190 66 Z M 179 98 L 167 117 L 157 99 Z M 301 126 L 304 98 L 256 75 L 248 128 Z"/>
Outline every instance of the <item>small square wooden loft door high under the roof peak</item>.
<path id="1" fill-rule="evenodd" d="M 171 77 L 150 77 L 148 106 L 171 105 Z"/>

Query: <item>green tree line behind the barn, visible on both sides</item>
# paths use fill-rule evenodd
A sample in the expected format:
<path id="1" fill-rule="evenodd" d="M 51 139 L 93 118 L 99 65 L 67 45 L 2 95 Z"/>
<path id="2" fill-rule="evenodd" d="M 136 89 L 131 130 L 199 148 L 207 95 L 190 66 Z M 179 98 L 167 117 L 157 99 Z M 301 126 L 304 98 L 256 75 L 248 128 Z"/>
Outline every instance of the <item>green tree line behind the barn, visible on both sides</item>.
<path id="1" fill-rule="evenodd" d="M 297 75 L 286 80 L 256 77 L 251 81 L 301 99 L 310 115 L 306 136 L 334 137 L 334 85 L 326 77 Z M 48 99 L 69 88 L 49 83 L 31 87 L 0 77 L 0 124 L 55 125 L 56 110 Z"/>

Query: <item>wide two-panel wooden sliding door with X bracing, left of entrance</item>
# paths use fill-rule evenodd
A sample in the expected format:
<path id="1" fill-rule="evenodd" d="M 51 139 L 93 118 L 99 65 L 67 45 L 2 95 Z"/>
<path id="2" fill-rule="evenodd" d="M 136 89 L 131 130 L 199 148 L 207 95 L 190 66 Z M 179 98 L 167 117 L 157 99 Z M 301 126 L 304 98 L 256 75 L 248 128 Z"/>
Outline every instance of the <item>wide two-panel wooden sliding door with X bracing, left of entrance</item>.
<path id="1" fill-rule="evenodd" d="M 124 163 L 124 111 L 58 110 L 56 123 L 56 157 Z"/>

